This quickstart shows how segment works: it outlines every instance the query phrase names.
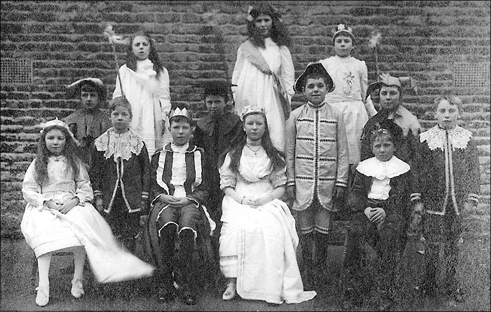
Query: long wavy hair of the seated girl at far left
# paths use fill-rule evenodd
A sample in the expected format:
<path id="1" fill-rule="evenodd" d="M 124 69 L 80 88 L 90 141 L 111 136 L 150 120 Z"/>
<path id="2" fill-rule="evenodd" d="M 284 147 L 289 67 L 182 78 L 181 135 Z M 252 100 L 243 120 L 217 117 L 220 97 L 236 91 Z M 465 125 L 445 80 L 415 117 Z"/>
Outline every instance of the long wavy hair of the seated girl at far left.
<path id="1" fill-rule="evenodd" d="M 67 128 L 62 126 L 48 126 L 43 129 L 39 136 L 36 152 L 36 163 L 34 164 L 36 172 L 36 182 L 39 186 L 44 186 L 48 182 L 48 158 L 51 156 L 48 147 L 46 147 L 46 135 L 51 130 L 60 130 L 65 135 L 66 143 L 62 155 L 67 157 L 74 179 L 79 176 L 79 167 L 81 160 L 75 155 L 76 143 L 69 134 Z"/>

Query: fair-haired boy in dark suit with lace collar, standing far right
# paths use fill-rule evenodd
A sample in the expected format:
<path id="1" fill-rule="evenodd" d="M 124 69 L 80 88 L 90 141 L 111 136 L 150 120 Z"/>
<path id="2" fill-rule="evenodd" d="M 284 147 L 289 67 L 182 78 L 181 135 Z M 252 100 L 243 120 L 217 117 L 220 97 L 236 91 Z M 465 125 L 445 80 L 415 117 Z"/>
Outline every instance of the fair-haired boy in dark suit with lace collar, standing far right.
<path id="1" fill-rule="evenodd" d="M 415 213 L 423 216 L 426 239 L 426 294 L 462 301 L 455 278 L 462 214 L 478 204 L 479 160 L 472 133 L 457 126 L 462 101 L 453 95 L 435 100 L 438 125 L 419 135 Z M 421 198 L 421 201 L 418 201 Z M 417 217 L 415 215 L 415 217 Z"/>

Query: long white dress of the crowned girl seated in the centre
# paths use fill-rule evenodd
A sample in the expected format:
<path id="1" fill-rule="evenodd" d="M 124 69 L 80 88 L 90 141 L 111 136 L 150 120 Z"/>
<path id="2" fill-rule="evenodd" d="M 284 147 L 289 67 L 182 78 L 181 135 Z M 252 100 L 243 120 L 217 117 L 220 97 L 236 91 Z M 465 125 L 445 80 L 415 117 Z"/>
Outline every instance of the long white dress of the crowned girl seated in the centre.
<path id="1" fill-rule="evenodd" d="M 242 152 L 239 172 L 229 170 L 227 154 L 220 168 L 220 187 L 234 187 L 241 196 L 271 193 L 286 183 L 285 168 L 271 172 L 267 154 Z M 305 292 L 298 269 L 298 236 L 288 206 L 278 199 L 258 208 L 241 205 L 225 195 L 222 202 L 220 269 L 225 277 L 237 278 L 237 293 L 243 299 L 288 304 L 312 299 Z"/>

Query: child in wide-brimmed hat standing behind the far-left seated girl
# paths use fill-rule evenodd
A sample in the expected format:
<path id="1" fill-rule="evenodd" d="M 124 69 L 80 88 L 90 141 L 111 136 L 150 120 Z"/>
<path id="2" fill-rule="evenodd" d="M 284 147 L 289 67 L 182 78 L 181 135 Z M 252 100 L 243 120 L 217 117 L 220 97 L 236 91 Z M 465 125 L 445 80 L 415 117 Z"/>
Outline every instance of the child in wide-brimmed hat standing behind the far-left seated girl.
<path id="1" fill-rule="evenodd" d="M 107 99 L 107 87 L 97 78 L 80 79 L 67 87 L 67 98 L 77 98 L 81 102 L 81 107 L 64 121 L 76 140 L 79 140 L 80 147 L 75 154 L 88 169 L 91 165 L 92 143 L 112 126 L 108 114 L 100 109 L 100 105 Z"/>

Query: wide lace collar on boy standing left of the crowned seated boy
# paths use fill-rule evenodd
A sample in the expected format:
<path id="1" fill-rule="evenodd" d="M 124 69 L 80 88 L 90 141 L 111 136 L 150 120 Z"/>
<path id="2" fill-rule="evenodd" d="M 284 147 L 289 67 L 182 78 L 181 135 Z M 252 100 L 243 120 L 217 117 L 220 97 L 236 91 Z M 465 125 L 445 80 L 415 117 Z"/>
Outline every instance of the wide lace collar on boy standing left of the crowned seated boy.
<path id="1" fill-rule="evenodd" d="M 133 130 L 130 129 L 119 135 L 114 132 L 114 128 L 109 128 L 100 137 L 97 137 L 94 144 L 97 151 L 105 151 L 106 159 L 114 156 L 115 162 L 118 161 L 118 158 L 128 161 L 132 153 L 139 155 L 144 145 L 142 139 Z"/>

